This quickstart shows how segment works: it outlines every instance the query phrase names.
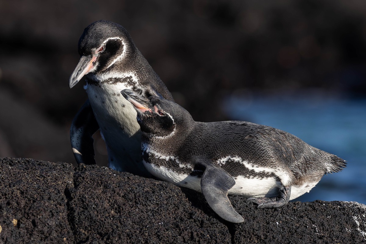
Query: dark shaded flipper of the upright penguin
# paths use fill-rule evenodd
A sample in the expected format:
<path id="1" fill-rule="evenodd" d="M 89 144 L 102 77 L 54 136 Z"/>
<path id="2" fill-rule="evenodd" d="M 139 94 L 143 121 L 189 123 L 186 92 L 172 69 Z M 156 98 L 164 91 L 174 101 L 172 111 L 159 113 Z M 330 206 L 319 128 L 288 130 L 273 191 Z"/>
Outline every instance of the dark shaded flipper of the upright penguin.
<path id="1" fill-rule="evenodd" d="M 78 164 L 96 164 L 93 134 L 99 129 L 93 109 L 87 100 L 72 120 L 70 140 Z"/>

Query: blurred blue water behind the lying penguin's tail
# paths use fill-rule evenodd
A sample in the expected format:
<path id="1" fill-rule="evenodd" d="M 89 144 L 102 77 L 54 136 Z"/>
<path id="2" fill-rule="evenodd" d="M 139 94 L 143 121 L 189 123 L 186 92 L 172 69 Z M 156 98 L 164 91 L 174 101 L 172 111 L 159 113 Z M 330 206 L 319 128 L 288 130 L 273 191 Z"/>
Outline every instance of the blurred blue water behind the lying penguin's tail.
<path id="1" fill-rule="evenodd" d="M 299 198 L 356 201 L 366 204 L 366 99 L 324 94 L 253 95 L 228 98 L 224 108 L 233 120 L 269 125 L 347 161 L 347 167 L 325 175 Z"/>

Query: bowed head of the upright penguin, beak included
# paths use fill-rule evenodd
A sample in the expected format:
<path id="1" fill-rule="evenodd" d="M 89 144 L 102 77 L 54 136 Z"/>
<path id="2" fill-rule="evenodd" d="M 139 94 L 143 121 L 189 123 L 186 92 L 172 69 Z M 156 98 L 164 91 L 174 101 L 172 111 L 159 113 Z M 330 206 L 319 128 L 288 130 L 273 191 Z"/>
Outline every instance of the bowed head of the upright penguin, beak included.
<path id="1" fill-rule="evenodd" d="M 86 74 L 100 74 L 116 65 L 127 66 L 136 46 L 128 32 L 120 25 L 98 20 L 85 28 L 80 37 L 78 51 L 80 60 L 69 80 L 75 86 Z"/>

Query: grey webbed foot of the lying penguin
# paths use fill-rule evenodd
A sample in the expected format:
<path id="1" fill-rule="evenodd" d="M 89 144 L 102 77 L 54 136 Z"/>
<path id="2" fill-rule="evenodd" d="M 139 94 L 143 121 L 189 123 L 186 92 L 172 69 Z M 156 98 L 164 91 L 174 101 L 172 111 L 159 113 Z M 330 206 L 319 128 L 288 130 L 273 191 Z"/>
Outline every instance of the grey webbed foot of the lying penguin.
<path id="1" fill-rule="evenodd" d="M 275 198 L 248 198 L 247 201 L 258 204 L 258 209 L 273 209 L 282 207 L 288 203 L 291 196 L 291 185 L 283 187 Z"/>

